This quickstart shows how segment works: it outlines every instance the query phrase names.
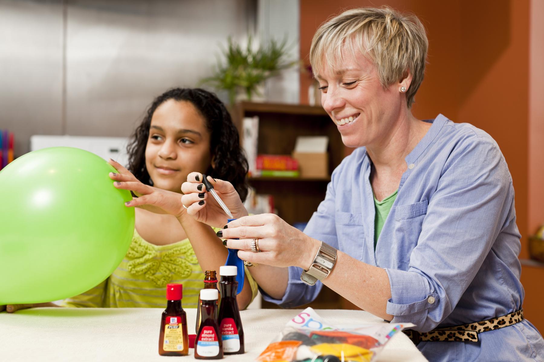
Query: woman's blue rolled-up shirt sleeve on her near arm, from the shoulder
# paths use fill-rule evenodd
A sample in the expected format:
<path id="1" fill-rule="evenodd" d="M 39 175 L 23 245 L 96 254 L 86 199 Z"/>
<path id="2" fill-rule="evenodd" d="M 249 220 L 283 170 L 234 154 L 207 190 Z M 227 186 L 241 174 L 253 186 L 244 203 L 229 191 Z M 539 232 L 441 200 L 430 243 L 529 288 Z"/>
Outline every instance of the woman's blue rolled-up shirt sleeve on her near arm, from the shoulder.
<path id="1" fill-rule="evenodd" d="M 515 222 L 511 183 L 493 141 L 472 137 L 453 150 L 428 200 L 409 269 L 386 268 L 392 322 L 412 322 L 425 332 L 452 312 L 500 231 Z"/>

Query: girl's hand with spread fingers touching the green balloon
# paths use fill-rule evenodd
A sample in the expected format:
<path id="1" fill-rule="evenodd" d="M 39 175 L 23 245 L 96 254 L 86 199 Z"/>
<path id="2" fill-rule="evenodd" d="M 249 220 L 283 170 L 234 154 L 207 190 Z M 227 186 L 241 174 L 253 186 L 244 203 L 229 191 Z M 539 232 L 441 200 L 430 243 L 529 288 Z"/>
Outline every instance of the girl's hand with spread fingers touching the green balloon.
<path id="1" fill-rule="evenodd" d="M 128 207 L 140 207 L 159 214 L 171 214 L 180 218 L 184 214 L 181 204 L 181 195 L 176 192 L 163 190 L 157 187 L 145 185 L 140 182 L 129 170 L 113 160 L 108 161 L 119 173 L 111 172 L 110 179 L 116 180 L 115 188 L 131 190 L 138 198 L 125 202 Z"/>

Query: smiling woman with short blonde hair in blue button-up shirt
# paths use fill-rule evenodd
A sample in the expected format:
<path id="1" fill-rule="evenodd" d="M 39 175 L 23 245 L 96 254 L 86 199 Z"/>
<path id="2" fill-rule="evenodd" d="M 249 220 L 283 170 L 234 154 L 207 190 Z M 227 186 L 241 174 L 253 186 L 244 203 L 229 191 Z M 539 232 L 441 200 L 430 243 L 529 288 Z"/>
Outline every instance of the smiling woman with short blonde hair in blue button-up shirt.
<path id="1" fill-rule="evenodd" d="M 431 361 L 542 361 L 542 336 L 523 319 L 514 188 L 497 143 L 470 124 L 410 111 L 427 48 L 417 17 L 390 8 L 325 22 L 312 68 L 324 109 L 357 149 L 304 233 L 277 215 L 247 216 L 217 180 L 238 218 L 218 236 L 258 263 L 251 274 L 268 301 L 300 306 L 325 284 L 367 312 L 414 323 L 411 338 Z M 198 180 L 189 175 L 181 202 L 222 226 L 213 200 L 198 205 Z"/>

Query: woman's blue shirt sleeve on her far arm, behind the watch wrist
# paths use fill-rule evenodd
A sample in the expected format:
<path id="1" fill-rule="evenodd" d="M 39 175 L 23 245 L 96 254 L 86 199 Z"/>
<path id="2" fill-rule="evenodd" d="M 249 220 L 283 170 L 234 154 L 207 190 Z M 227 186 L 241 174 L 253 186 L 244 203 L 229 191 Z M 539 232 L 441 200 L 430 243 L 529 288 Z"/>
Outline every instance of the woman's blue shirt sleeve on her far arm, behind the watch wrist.
<path id="1" fill-rule="evenodd" d="M 312 218 L 308 221 L 308 225 L 304 229 L 304 233 L 308 236 L 322 240 L 336 248 L 338 248 L 338 239 L 335 226 L 335 180 L 341 167 L 339 166 L 332 173 L 331 182 L 327 185 L 325 200 L 319 204 L 317 211 L 313 213 Z M 300 280 L 301 274 L 301 268 L 289 266 L 289 282 L 283 298 L 281 300 L 273 299 L 261 289 L 263 299 L 285 308 L 310 303 L 316 299 L 323 284 L 318 281 L 316 285 L 308 285 Z"/>

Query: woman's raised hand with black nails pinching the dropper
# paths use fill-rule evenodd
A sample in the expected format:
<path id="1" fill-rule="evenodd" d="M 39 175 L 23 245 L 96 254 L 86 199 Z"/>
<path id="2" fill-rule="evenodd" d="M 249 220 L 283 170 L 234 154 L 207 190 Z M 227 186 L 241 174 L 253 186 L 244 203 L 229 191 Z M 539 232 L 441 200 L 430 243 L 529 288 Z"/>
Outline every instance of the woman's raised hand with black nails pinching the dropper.
<path id="1" fill-rule="evenodd" d="M 207 176 L 213 189 L 219 198 L 225 202 L 234 218 L 248 215 L 236 189 L 228 181 L 214 180 Z M 187 213 L 201 223 L 214 227 L 223 227 L 227 223 L 227 214 L 215 201 L 212 195 L 206 192 L 206 186 L 202 183 L 202 174 L 191 172 L 187 175 L 187 182 L 181 185 L 181 198 L 183 205 L 187 207 Z"/>

